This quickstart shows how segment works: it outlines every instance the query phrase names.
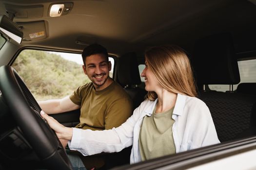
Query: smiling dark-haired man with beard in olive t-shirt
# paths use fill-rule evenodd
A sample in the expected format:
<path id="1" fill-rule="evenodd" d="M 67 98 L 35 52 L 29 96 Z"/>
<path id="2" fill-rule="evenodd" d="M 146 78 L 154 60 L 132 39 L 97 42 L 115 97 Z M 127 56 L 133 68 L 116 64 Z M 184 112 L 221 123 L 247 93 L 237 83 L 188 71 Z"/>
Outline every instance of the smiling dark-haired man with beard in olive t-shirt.
<path id="1" fill-rule="evenodd" d="M 123 88 L 109 77 L 111 62 L 107 50 L 92 44 L 82 52 L 84 73 L 92 81 L 79 86 L 63 99 L 41 101 L 47 114 L 63 113 L 80 108 L 81 129 L 104 130 L 120 126 L 132 114 L 132 101 Z M 63 146 L 67 141 L 61 140 Z"/>

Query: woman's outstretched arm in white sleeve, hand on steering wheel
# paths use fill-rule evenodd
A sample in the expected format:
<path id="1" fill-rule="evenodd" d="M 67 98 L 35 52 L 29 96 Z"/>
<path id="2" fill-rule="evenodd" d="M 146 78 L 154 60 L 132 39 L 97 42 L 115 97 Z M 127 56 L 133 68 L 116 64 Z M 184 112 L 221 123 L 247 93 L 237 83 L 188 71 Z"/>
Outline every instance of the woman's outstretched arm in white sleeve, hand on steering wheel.
<path id="1" fill-rule="evenodd" d="M 118 128 L 92 131 L 89 129 L 83 130 L 65 127 L 41 111 L 41 116 L 46 119 L 59 139 L 69 140 L 69 148 L 71 150 L 77 150 L 83 155 L 119 152 L 131 146 L 133 144 L 134 126 L 138 118 L 136 115 L 138 115 L 138 112 L 134 112 L 134 115 Z"/>

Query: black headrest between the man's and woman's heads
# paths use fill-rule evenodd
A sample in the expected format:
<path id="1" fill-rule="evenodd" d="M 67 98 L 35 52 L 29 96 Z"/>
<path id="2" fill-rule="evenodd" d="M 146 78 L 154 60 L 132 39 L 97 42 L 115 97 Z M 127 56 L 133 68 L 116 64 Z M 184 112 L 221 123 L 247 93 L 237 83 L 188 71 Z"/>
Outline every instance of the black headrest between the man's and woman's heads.
<path id="1" fill-rule="evenodd" d="M 129 52 L 119 58 L 118 83 L 123 87 L 125 85 L 139 85 L 141 83 L 135 52 Z"/>

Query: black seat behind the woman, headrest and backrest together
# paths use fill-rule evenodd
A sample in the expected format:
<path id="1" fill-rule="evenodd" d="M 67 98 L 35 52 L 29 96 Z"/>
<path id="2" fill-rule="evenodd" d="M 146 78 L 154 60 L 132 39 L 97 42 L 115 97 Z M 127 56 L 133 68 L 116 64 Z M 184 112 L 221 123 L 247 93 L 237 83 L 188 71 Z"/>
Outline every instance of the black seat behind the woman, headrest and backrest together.
<path id="1" fill-rule="evenodd" d="M 202 90 L 203 85 L 234 85 L 240 82 L 230 34 L 216 34 L 197 41 L 192 58 L 199 96 L 210 109 L 220 141 L 236 139 L 256 126 L 251 95 Z"/>

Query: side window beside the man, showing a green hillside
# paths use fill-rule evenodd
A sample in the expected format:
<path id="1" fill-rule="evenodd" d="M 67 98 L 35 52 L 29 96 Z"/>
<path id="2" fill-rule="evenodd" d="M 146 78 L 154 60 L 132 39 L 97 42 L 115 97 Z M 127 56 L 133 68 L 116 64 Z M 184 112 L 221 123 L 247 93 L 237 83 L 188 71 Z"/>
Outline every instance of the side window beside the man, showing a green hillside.
<path id="1" fill-rule="evenodd" d="M 113 77 L 114 59 L 110 76 Z M 59 99 L 91 82 L 82 70 L 81 54 L 23 50 L 13 63 L 36 100 Z"/>

